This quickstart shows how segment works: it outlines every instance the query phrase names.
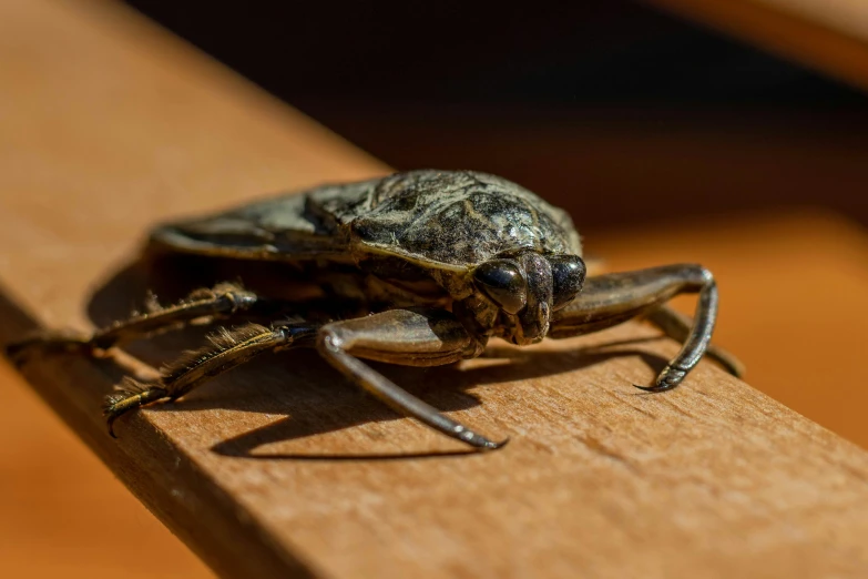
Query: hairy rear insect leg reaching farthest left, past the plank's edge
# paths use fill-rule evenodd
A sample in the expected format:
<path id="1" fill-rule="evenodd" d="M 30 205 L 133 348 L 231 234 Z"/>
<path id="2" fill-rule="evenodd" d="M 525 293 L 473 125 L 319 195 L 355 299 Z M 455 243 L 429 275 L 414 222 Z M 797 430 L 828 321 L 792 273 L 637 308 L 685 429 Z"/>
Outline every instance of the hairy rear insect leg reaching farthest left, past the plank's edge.
<path id="1" fill-rule="evenodd" d="M 104 351 L 124 342 L 145 337 L 183 326 L 194 319 L 222 319 L 251 309 L 259 297 L 239 285 L 222 283 L 213 288 L 201 288 L 170 306 L 161 306 L 149 296 L 146 312 L 135 313 L 127 319 L 98 329 L 90 336 L 74 335 L 65 331 L 48 331 L 25 341 L 7 346 L 9 357 L 21 363 L 31 348 L 47 353 Z"/>

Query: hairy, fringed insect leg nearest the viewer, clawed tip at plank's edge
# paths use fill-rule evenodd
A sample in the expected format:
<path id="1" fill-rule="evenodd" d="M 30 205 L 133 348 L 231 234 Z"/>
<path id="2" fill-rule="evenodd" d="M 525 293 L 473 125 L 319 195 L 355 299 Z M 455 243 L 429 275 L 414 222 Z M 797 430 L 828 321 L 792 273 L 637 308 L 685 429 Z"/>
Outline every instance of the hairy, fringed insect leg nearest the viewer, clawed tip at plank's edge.
<path id="1" fill-rule="evenodd" d="M 226 329 L 208 336 L 211 345 L 185 353 L 161 369 L 159 382 L 143 384 L 125 378 L 119 390 L 105 397 L 103 414 L 109 433 L 119 416 L 163 398 L 175 399 L 206 380 L 249 362 L 264 352 L 313 346 L 317 326 L 286 323 L 267 328 L 258 324 Z"/>

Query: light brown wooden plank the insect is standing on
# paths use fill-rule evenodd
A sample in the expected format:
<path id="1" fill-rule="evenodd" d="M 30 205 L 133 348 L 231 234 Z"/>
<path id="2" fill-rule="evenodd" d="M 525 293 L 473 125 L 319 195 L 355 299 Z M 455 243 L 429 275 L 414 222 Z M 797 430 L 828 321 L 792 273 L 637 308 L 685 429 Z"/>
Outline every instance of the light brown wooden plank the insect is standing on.
<path id="1" fill-rule="evenodd" d="M 384 171 L 123 10 L 72 7 L 0 6 L 0 339 L 141 299 L 137 271 L 119 272 L 159 219 Z M 124 419 L 119 441 L 98 412 L 115 366 L 41 360 L 27 376 L 226 577 L 864 576 L 868 456 L 707 364 L 639 395 L 676 348 L 625 325 L 501 347 L 509 363 L 397 369 L 513 437 L 428 459 L 359 459 L 455 447 L 304 353 Z"/>

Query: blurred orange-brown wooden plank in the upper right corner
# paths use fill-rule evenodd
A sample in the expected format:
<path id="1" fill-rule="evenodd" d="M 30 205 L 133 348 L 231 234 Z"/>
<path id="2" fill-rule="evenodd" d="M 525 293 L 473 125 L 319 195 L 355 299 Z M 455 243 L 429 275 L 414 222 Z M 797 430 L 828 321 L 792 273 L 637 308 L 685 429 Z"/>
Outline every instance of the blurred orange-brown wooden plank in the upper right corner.
<path id="1" fill-rule="evenodd" d="M 868 8 L 860 0 L 644 0 L 868 89 Z"/>

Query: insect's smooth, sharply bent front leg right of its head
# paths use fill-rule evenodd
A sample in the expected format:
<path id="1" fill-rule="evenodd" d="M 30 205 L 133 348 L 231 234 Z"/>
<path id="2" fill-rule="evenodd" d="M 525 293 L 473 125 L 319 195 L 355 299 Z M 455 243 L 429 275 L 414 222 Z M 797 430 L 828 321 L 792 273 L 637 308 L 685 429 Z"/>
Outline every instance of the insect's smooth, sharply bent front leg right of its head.
<path id="1" fill-rule="evenodd" d="M 683 264 L 589 277 L 579 296 L 553 315 L 550 337 L 589 334 L 647 314 L 673 296 L 698 293 L 696 315 L 681 352 L 657 376 L 650 392 L 677 386 L 708 347 L 717 316 L 717 286 L 701 265 Z"/>

